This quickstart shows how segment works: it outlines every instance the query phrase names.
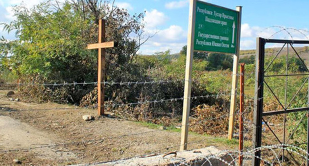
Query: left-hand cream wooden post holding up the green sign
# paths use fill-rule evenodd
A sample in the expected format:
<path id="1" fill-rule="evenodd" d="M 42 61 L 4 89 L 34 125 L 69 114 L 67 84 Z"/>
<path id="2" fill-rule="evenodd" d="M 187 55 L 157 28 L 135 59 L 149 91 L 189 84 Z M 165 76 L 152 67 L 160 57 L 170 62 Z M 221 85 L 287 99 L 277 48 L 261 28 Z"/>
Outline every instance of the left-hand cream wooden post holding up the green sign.
<path id="1" fill-rule="evenodd" d="M 196 3 L 197 0 L 190 0 L 189 10 L 189 27 L 188 27 L 188 46 L 187 46 L 187 60 L 186 60 L 186 76 L 185 76 L 185 91 L 184 103 L 182 112 L 182 127 L 181 127 L 181 143 L 180 151 L 187 149 L 188 131 L 189 131 L 189 115 L 190 115 L 190 98 L 191 98 L 191 84 L 192 84 L 192 62 L 193 62 L 193 47 L 194 47 L 194 32 L 195 32 L 195 17 L 196 17 Z"/>

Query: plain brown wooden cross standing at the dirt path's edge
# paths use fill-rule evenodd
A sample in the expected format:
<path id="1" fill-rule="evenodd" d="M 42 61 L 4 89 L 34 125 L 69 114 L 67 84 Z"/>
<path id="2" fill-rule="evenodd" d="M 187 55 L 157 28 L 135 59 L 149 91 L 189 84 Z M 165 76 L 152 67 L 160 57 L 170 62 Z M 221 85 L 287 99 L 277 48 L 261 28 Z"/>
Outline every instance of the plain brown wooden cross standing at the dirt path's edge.
<path id="1" fill-rule="evenodd" d="M 105 20 L 99 20 L 99 42 L 88 44 L 87 49 L 99 49 L 98 53 L 98 114 L 104 115 L 105 49 L 114 47 L 114 42 L 105 42 Z"/>

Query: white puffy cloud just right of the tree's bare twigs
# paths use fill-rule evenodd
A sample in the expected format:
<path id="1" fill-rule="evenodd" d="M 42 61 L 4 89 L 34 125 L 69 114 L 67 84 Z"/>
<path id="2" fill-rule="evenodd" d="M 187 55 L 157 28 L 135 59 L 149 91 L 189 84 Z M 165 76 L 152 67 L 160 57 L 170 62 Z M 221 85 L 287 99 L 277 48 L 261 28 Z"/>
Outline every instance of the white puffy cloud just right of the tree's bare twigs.
<path id="1" fill-rule="evenodd" d="M 146 10 L 146 15 L 144 17 L 144 23 L 146 24 L 146 29 L 152 29 L 159 25 L 163 25 L 167 20 L 167 17 L 163 12 L 159 12 L 153 9 L 151 12 Z"/>

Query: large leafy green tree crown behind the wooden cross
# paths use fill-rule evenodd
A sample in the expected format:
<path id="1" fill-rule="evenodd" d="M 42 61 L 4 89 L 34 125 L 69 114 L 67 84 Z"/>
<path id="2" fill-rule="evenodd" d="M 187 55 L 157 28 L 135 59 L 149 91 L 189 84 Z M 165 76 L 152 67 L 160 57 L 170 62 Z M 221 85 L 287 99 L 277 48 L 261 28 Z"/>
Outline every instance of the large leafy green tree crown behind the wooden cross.
<path id="1" fill-rule="evenodd" d="M 149 39 L 143 33 L 143 13 L 130 15 L 126 9 L 102 0 L 67 0 L 64 4 L 41 3 L 31 9 L 14 7 L 16 20 L 4 24 L 4 30 L 16 30 L 16 41 L 2 44 L 1 54 L 11 60 L 21 75 L 40 74 L 54 82 L 94 81 L 97 54 L 86 49 L 98 41 L 98 20 L 104 18 L 106 40 L 118 47 L 107 49 L 106 78 L 115 81 L 136 72 L 133 58 Z M 4 49 L 5 48 L 5 49 Z M 7 51 L 9 50 L 9 51 Z"/>

